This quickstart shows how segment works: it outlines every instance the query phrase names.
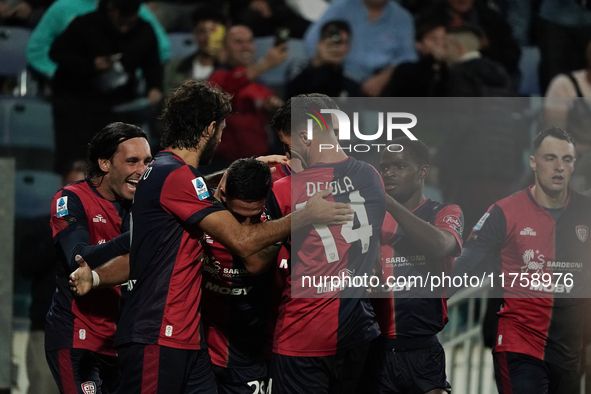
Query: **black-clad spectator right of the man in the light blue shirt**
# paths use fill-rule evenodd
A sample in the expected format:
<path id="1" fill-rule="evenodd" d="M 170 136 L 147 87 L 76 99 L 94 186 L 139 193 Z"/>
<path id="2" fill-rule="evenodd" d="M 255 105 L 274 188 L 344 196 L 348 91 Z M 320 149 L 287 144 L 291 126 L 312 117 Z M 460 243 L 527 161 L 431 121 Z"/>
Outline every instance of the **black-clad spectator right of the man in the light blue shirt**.
<path id="1" fill-rule="evenodd" d="M 447 75 L 445 26 L 437 21 L 418 21 L 415 34 L 419 61 L 396 67 L 384 96 L 443 96 Z"/>

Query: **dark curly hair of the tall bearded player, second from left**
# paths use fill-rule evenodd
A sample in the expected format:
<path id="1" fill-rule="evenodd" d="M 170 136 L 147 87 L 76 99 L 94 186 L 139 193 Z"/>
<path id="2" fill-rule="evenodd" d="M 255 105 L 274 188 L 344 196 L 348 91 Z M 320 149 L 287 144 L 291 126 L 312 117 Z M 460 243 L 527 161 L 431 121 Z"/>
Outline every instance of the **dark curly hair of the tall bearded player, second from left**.
<path id="1" fill-rule="evenodd" d="M 162 112 L 163 132 L 160 146 L 175 149 L 197 148 L 203 131 L 211 122 L 216 129 L 232 112 L 232 96 L 206 81 L 185 81 L 166 100 Z"/>

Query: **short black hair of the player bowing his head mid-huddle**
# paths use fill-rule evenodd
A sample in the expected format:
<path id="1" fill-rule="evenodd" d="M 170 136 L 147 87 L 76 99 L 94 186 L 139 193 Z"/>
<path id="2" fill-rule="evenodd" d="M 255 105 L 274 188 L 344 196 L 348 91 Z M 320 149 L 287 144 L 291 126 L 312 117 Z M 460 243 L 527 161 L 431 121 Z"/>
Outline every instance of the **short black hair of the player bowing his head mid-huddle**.
<path id="1" fill-rule="evenodd" d="M 269 166 L 254 158 L 238 159 L 226 175 L 226 197 L 255 202 L 267 198 L 273 183 Z"/>

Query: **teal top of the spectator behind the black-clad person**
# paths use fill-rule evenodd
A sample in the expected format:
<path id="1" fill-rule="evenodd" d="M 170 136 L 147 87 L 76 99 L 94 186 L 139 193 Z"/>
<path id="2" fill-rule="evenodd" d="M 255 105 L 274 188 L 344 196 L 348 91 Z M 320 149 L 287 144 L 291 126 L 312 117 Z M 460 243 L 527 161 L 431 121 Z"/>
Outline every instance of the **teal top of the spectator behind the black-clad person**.
<path id="1" fill-rule="evenodd" d="M 53 79 L 57 64 L 49 57 L 51 45 L 74 18 L 95 11 L 98 4 L 95 0 L 57 0 L 49 7 L 27 43 L 27 59 L 40 76 L 47 80 Z M 170 43 L 166 32 L 145 4 L 140 6 L 138 15 L 154 29 L 158 39 L 160 61 L 164 64 L 170 57 Z"/>

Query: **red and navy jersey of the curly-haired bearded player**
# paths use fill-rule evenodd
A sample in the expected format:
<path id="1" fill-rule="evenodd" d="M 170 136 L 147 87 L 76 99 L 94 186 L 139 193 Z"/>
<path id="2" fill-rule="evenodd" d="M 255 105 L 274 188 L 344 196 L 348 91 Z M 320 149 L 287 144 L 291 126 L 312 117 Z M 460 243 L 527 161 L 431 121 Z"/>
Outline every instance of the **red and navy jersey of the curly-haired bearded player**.
<path id="1" fill-rule="evenodd" d="M 129 282 L 115 344 L 205 347 L 201 324 L 203 232 L 225 209 L 199 171 L 163 151 L 144 171 L 133 203 Z"/>

